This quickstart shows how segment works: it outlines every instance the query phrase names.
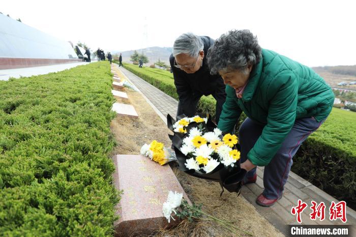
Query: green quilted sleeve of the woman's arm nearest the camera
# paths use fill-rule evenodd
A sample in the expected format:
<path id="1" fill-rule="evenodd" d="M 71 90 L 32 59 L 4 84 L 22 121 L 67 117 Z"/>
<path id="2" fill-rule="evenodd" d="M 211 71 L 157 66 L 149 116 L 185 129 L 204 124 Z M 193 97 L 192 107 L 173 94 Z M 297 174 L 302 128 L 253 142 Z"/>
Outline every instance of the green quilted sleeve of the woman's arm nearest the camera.
<path id="1" fill-rule="evenodd" d="M 247 154 L 247 158 L 258 166 L 270 163 L 294 125 L 298 104 L 298 81 L 291 73 L 280 74 L 270 84 L 267 92 L 277 92 L 269 105 L 267 125 Z"/>

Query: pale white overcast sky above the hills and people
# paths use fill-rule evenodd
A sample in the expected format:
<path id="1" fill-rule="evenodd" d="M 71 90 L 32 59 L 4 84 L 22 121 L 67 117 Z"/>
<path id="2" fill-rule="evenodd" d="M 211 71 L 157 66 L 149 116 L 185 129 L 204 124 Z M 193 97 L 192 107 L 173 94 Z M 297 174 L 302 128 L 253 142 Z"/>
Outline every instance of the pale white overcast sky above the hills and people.
<path id="1" fill-rule="evenodd" d="M 250 29 L 262 48 L 304 65 L 356 65 L 355 1 L 17 1 L 0 12 L 91 49 L 172 47 L 183 33 L 219 38 Z"/>

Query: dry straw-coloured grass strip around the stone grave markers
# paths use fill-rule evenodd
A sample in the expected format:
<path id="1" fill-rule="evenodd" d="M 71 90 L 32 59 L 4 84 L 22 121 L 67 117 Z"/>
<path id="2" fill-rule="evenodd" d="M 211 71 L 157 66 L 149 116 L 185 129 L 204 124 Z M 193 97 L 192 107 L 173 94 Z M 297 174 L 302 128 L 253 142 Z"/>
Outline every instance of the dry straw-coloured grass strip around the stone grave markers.
<path id="1" fill-rule="evenodd" d="M 131 104 L 135 107 L 138 118 L 117 116 L 111 122 L 111 131 L 117 140 L 113 154 L 138 155 L 144 143 L 156 139 L 166 147 L 171 143 L 167 134 L 172 134 L 157 113 L 145 101 L 139 92 L 125 89 L 129 99 L 118 102 Z M 144 133 L 142 134 L 142 131 Z M 236 227 L 253 233 L 254 236 L 284 236 L 255 210 L 242 195 L 229 193 L 225 190 L 220 197 L 221 188 L 218 183 L 205 181 L 187 175 L 170 164 L 177 179 L 187 193 L 189 199 L 195 203 L 202 203 L 202 210 L 213 216 L 226 220 Z M 234 236 L 228 230 L 209 222 L 182 221 L 180 225 L 169 230 L 159 230 L 153 236 Z M 241 233 L 241 236 L 249 236 Z"/>

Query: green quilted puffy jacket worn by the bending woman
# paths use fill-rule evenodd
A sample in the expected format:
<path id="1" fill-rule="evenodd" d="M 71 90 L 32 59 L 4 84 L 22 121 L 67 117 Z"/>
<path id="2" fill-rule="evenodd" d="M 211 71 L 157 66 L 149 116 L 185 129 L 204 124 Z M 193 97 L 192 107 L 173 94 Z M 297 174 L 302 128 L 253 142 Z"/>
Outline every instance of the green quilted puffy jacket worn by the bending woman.
<path id="1" fill-rule="evenodd" d="M 247 158 L 265 166 L 302 117 L 326 119 L 334 103 L 331 87 L 312 69 L 271 50 L 262 49 L 261 61 L 254 66 L 241 99 L 226 85 L 226 101 L 218 128 L 231 132 L 242 111 L 253 121 L 264 124 L 261 136 Z"/>

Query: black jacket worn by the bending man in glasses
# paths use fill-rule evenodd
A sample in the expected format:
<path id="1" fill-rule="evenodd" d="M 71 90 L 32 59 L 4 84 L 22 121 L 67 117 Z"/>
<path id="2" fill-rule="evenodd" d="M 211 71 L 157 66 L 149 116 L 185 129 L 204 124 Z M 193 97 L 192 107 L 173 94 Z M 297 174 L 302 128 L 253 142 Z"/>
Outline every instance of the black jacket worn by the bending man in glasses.
<path id="1" fill-rule="evenodd" d="M 184 103 L 189 100 L 192 94 L 202 94 L 209 96 L 212 94 L 224 94 L 225 84 L 219 74 L 211 75 L 207 66 L 206 55 L 207 50 L 214 44 L 214 40 L 207 36 L 200 37 L 204 42 L 204 58 L 202 67 L 195 73 L 188 74 L 183 70 L 174 67 L 173 54 L 169 57 L 170 66 L 173 71 L 174 84 L 179 96 L 179 100 Z M 226 97 L 226 95 L 225 95 Z"/>

